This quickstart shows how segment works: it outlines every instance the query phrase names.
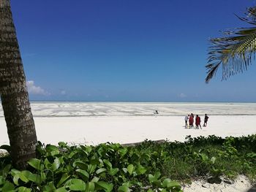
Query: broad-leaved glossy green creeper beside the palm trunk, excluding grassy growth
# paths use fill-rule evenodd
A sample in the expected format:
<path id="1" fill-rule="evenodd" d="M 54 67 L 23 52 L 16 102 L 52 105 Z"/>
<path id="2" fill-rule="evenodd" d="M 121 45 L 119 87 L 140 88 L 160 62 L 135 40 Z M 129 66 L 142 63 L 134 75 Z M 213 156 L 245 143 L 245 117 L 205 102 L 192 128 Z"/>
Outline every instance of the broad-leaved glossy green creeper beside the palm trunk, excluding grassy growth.
<path id="1" fill-rule="evenodd" d="M 119 144 L 37 146 L 38 158 L 19 171 L 3 161 L 0 191 L 181 191 L 159 172 L 162 158 Z M 163 155 L 163 153 L 162 153 Z"/>

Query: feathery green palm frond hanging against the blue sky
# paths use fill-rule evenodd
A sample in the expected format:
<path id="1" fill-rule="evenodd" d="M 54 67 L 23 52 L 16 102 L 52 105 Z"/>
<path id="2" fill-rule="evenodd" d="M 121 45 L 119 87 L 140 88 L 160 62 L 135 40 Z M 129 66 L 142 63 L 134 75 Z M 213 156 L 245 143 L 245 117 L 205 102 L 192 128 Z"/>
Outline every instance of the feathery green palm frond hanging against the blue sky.
<path id="1" fill-rule="evenodd" d="M 256 7 L 248 8 L 249 18 L 241 18 L 247 23 L 256 25 Z M 217 73 L 219 66 L 222 66 L 222 80 L 244 72 L 249 64 L 252 64 L 252 57 L 256 52 L 256 27 L 236 28 L 233 31 L 224 32 L 227 37 L 210 39 L 211 46 L 208 49 L 208 64 L 206 65 L 208 83 Z"/>

